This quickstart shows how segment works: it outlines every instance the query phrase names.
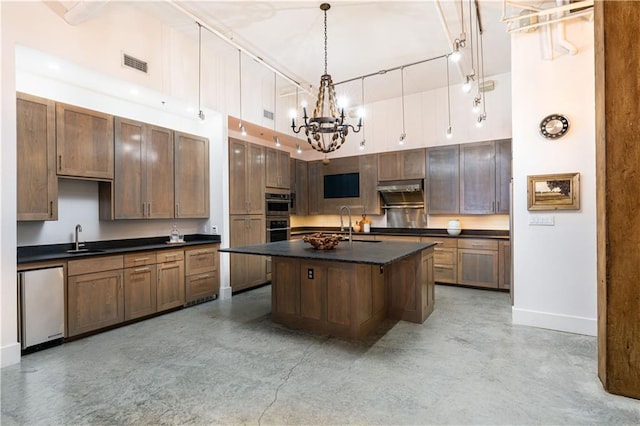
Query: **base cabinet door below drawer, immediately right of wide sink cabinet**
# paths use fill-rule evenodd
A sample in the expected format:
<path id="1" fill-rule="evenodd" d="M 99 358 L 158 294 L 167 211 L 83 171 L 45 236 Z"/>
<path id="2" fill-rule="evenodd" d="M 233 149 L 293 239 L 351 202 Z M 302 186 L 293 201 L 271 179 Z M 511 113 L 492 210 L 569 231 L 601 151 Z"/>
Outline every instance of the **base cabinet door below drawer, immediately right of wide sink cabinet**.
<path id="1" fill-rule="evenodd" d="M 156 312 L 156 265 L 124 270 L 125 321 Z"/>

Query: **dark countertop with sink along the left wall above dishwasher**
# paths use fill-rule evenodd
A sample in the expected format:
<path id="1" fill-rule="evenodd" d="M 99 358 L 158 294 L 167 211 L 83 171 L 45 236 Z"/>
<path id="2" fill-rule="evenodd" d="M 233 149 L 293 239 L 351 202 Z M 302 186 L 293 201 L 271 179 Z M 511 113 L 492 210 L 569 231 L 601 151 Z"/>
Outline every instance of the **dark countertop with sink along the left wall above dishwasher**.
<path id="1" fill-rule="evenodd" d="M 168 237 L 164 236 L 109 241 L 87 241 L 84 248 L 88 249 L 88 251 L 80 253 L 67 253 L 67 250 L 74 248 L 73 243 L 22 246 L 18 247 L 18 265 L 219 243 L 220 235 L 191 234 L 185 235 L 184 240 L 184 243 L 167 244 Z"/>

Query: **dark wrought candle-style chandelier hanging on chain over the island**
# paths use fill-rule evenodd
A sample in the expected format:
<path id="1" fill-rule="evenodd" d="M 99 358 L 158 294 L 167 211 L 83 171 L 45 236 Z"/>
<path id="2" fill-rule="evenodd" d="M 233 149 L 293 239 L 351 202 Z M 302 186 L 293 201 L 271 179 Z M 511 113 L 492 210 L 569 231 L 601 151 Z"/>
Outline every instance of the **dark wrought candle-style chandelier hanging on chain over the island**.
<path id="1" fill-rule="evenodd" d="M 340 110 L 340 114 L 338 114 L 336 89 L 331 76 L 327 73 L 327 10 L 330 8 L 329 3 L 320 5 L 320 9 L 324 12 L 324 74 L 320 77 L 318 98 L 313 115 L 308 117 L 307 108 L 303 108 L 304 124 L 297 129 L 296 119 L 291 119 L 291 129 L 294 133 L 300 133 L 304 129 L 309 145 L 316 151 L 325 154 L 342 146 L 344 139 L 349 134 L 349 129 L 358 133 L 362 128 L 362 118 L 358 121 L 358 126 L 353 127 L 345 121 L 344 109 Z M 326 97 L 325 92 L 327 93 Z M 325 107 L 328 108 L 328 116 L 324 116 Z"/>

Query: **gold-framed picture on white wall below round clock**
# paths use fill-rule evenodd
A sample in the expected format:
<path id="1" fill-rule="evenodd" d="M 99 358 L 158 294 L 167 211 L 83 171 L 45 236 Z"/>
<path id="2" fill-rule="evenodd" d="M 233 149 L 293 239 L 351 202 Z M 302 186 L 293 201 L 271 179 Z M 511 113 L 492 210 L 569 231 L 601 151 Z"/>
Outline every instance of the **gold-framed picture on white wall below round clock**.
<path id="1" fill-rule="evenodd" d="M 527 176 L 528 210 L 580 210 L 580 173 Z"/>

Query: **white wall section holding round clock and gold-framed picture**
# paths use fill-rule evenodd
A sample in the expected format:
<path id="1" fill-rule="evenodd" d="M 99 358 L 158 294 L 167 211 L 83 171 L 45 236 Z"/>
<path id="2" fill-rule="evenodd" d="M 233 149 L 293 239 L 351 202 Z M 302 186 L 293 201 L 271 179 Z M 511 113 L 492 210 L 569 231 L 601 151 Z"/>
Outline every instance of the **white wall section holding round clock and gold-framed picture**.
<path id="1" fill-rule="evenodd" d="M 579 52 L 542 59 L 540 31 L 512 36 L 513 321 L 596 334 L 596 183 L 593 23 L 574 21 L 567 37 Z M 549 141 L 540 120 L 564 113 L 569 132 Z M 527 176 L 580 173 L 580 210 L 529 212 Z M 530 226 L 552 216 L 555 226 Z"/>

